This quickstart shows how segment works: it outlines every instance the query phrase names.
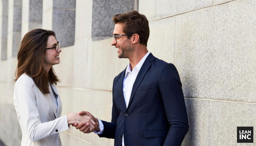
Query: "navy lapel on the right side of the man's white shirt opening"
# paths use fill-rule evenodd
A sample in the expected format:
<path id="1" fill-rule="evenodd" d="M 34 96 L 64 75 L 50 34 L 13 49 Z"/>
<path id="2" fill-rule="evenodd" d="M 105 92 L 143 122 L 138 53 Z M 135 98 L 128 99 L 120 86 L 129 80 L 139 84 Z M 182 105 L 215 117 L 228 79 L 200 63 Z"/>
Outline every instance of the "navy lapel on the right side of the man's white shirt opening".
<path id="1" fill-rule="evenodd" d="M 133 87 L 132 87 L 132 93 L 131 93 L 131 97 L 130 97 L 130 100 L 129 100 L 129 104 L 128 104 L 128 107 L 127 109 L 129 108 L 129 105 L 131 104 L 131 101 L 134 97 L 134 94 L 137 90 L 137 88 L 139 87 L 140 85 L 140 82 L 142 81 L 143 77 L 145 76 L 148 68 L 151 66 L 151 61 L 153 61 L 155 59 L 155 57 L 153 56 L 152 53 L 150 53 L 148 55 L 148 57 L 146 58 L 146 60 L 144 61 L 142 67 L 140 68 L 140 71 L 135 79 L 135 82 L 133 84 Z"/>

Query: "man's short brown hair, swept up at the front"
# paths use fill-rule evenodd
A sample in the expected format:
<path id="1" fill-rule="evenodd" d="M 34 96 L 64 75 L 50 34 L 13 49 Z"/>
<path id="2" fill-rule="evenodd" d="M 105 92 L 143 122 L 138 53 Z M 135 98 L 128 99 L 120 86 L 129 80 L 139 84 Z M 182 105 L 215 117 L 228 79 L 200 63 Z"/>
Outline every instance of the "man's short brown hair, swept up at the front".
<path id="1" fill-rule="evenodd" d="M 116 14 L 113 16 L 115 24 L 123 24 L 123 32 L 125 34 L 138 34 L 140 36 L 140 44 L 147 46 L 149 38 L 148 20 L 145 15 L 139 14 L 137 11 L 131 11 L 124 14 Z M 127 35 L 130 39 L 132 35 Z"/>

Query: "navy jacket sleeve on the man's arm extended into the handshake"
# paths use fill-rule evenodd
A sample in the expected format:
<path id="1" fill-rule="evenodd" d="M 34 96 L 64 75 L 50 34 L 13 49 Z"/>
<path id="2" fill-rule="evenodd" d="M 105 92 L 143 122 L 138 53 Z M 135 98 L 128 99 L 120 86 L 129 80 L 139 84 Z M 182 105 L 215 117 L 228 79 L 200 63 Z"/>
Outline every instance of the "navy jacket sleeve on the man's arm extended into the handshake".
<path id="1" fill-rule="evenodd" d="M 115 96 L 114 96 L 114 83 L 113 83 L 113 89 L 112 89 L 112 95 L 113 95 L 113 105 L 112 105 L 112 119 L 111 122 L 102 121 L 104 125 L 104 130 L 102 134 L 98 134 L 99 137 L 105 137 L 105 138 L 115 138 L 116 134 L 116 120 L 119 116 L 119 112 L 115 103 Z"/>

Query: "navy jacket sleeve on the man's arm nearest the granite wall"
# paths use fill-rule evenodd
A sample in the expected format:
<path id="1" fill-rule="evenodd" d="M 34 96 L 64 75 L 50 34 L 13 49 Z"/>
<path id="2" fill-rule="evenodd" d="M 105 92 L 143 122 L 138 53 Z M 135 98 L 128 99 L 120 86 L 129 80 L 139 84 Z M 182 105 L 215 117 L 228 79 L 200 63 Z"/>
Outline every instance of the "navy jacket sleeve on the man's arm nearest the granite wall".
<path id="1" fill-rule="evenodd" d="M 159 90 L 166 117 L 171 126 L 164 146 L 180 146 L 189 126 L 180 76 L 173 64 L 166 64 L 162 68 L 159 76 Z"/>

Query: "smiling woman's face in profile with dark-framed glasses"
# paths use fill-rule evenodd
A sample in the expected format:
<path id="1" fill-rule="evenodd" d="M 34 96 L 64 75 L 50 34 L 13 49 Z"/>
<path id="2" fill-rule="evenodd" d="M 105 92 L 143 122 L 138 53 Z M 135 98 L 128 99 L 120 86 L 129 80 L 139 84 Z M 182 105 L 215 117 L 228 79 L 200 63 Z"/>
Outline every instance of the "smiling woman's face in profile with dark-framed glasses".
<path id="1" fill-rule="evenodd" d="M 57 40 L 52 35 L 49 36 L 46 48 L 55 47 L 56 45 L 57 45 Z M 59 57 L 60 52 L 61 52 L 60 48 L 58 49 L 57 52 L 55 48 L 46 50 L 44 54 L 45 68 L 50 69 L 50 67 L 52 67 L 53 65 L 60 63 L 60 57 Z"/>

